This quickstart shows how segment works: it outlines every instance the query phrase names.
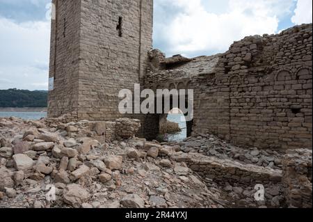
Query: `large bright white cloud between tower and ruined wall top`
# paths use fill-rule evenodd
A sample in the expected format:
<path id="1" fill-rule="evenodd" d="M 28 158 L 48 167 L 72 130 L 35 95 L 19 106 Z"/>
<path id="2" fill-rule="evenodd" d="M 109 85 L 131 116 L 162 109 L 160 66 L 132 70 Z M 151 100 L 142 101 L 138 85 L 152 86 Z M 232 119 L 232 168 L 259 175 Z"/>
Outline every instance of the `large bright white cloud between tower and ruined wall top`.
<path id="1" fill-rule="evenodd" d="M 171 54 L 197 51 L 223 52 L 246 35 L 277 33 L 280 17 L 291 13 L 294 0 L 229 0 L 222 13 L 208 12 L 203 0 L 159 0 L 182 8 L 157 32 L 168 42 Z M 213 3 L 213 2 L 212 2 Z M 208 4 L 207 4 L 208 5 Z"/>

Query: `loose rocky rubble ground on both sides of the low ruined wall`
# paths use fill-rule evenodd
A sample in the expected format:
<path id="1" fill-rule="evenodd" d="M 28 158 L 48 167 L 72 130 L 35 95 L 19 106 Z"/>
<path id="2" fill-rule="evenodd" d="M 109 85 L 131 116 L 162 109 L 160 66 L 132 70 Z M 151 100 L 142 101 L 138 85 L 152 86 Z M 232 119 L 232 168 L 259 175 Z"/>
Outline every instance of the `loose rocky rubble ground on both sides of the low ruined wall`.
<path id="1" fill-rule="evenodd" d="M 0 207 L 284 207 L 281 184 L 265 184 L 266 200 L 256 201 L 254 184 L 217 183 L 170 158 L 199 152 L 280 169 L 278 152 L 246 150 L 214 136 L 147 142 L 131 136 L 134 124 L 124 130 L 118 122 L 122 136 L 105 142 L 95 135 L 107 126 L 88 131 L 88 121 L 0 119 Z"/>

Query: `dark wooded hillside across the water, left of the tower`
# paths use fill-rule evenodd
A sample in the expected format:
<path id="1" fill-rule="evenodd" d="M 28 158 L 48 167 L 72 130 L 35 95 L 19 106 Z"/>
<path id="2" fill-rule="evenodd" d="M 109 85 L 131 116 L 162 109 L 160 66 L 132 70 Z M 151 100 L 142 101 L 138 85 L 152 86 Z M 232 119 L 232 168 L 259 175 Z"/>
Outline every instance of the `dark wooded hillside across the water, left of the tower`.
<path id="1" fill-rule="evenodd" d="M 48 91 L 0 90 L 0 107 L 47 107 Z"/>

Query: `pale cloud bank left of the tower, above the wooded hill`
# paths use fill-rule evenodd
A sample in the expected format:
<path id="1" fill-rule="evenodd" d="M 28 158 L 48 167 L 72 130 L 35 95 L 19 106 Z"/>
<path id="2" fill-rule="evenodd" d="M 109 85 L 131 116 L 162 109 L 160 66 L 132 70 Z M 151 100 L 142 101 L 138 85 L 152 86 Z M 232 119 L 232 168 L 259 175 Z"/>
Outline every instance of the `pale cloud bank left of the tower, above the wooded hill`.
<path id="1" fill-rule="evenodd" d="M 35 1 L 33 1 L 35 3 Z M 0 17 L 0 88 L 47 89 L 50 22 Z"/>

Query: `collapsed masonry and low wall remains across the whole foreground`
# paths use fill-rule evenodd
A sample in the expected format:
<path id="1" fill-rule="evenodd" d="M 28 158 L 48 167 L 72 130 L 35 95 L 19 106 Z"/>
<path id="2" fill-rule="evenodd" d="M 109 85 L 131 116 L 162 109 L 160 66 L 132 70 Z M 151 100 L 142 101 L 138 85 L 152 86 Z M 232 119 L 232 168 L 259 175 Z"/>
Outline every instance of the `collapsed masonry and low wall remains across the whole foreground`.
<path id="1" fill-rule="evenodd" d="M 205 138 L 136 138 L 138 120 L 66 119 L 0 120 L 0 207 L 312 207 L 312 150 L 277 153 L 271 168 L 184 151 Z M 215 150 L 235 149 L 208 138 Z M 45 199 L 48 184 L 56 201 Z M 264 200 L 253 199 L 257 184 Z"/>

